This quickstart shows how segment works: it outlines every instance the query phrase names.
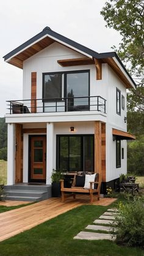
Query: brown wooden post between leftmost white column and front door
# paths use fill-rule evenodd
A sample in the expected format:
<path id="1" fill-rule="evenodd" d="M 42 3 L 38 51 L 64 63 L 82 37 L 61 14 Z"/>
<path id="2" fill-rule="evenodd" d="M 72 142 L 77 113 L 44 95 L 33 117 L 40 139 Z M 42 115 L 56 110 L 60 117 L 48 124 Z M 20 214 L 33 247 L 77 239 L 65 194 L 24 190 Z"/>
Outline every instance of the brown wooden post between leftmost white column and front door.
<path id="1" fill-rule="evenodd" d="M 23 125 L 15 125 L 15 139 L 16 139 L 16 152 L 15 152 L 15 183 L 23 182 Z"/>

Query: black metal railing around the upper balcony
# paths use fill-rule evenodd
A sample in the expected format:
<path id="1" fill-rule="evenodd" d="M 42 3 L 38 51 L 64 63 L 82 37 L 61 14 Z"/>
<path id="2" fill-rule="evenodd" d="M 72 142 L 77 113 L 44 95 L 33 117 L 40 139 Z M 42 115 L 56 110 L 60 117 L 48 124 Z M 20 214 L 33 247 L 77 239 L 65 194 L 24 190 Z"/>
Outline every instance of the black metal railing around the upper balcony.
<path id="1" fill-rule="evenodd" d="M 101 111 L 106 113 L 106 100 L 101 96 L 43 98 L 7 101 L 9 114 L 43 112 Z"/>

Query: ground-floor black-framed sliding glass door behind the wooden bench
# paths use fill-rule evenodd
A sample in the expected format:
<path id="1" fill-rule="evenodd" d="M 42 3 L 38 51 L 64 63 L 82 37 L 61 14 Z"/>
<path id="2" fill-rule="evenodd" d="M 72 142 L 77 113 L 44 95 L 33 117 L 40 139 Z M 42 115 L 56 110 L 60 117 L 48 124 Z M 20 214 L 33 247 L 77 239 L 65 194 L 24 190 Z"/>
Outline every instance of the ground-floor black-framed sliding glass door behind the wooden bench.
<path id="1" fill-rule="evenodd" d="M 93 135 L 57 136 L 57 168 L 65 172 L 93 172 Z"/>

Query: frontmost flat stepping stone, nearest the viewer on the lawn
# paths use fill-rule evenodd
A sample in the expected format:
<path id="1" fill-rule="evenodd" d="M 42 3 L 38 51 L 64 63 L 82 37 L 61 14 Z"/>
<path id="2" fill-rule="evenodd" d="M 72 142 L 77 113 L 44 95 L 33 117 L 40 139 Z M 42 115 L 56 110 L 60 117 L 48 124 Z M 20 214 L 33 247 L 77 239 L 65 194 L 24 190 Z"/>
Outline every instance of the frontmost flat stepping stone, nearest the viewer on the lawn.
<path id="1" fill-rule="evenodd" d="M 95 233 L 95 232 L 79 232 L 74 239 L 83 239 L 83 240 L 112 240 L 114 241 L 115 238 L 112 238 L 110 234 L 103 234 L 103 233 Z"/>

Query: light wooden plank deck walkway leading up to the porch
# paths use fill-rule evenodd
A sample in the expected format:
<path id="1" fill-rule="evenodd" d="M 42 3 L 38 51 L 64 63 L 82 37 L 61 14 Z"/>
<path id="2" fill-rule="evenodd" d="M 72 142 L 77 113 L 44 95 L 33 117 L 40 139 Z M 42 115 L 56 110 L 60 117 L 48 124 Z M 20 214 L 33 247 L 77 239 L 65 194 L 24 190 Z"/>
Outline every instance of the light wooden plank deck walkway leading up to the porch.
<path id="1" fill-rule="evenodd" d="M 95 201 L 93 205 L 107 206 L 116 199 L 103 198 Z M 77 195 L 77 199 L 68 199 L 62 203 L 60 198 L 51 198 L 26 207 L 0 214 L 0 241 L 10 238 L 24 230 L 31 229 L 59 214 L 65 213 L 81 205 L 89 204 L 89 196 Z"/>

